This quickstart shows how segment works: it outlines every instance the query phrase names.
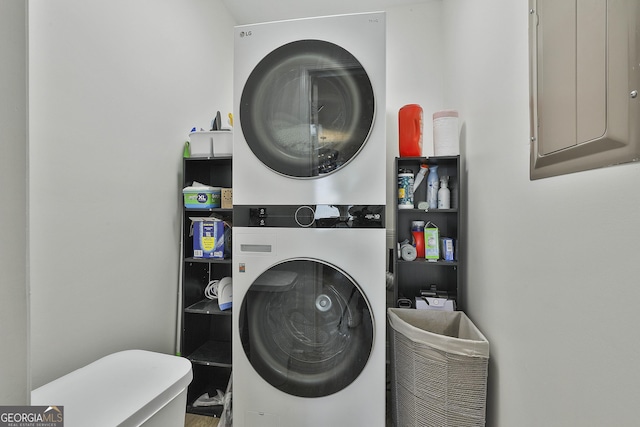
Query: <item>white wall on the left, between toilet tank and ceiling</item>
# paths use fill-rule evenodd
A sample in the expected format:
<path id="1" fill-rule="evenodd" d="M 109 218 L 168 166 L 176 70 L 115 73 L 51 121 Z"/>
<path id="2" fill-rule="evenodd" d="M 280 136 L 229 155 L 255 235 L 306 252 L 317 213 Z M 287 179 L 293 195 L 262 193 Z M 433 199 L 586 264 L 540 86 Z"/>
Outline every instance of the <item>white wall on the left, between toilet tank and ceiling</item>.
<path id="1" fill-rule="evenodd" d="M 175 351 L 182 148 L 232 111 L 219 0 L 29 6 L 33 386 Z"/>

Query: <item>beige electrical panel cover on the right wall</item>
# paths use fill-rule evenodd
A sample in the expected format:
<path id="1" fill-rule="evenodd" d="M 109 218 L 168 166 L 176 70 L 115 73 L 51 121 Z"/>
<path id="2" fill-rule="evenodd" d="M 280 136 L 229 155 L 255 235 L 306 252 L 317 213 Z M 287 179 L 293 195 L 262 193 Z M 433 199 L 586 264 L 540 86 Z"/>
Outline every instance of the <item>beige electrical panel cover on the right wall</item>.
<path id="1" fill-rule="evenodd" d="M 531 179 L 640 159 L 640 2 L 530 0 Z"/>

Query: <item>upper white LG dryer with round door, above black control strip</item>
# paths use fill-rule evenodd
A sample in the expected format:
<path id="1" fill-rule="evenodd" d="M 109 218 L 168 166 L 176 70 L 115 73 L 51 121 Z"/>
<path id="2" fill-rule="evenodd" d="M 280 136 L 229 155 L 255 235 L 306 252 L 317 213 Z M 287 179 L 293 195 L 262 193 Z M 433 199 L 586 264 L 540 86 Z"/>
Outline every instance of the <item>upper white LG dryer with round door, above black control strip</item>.
<path id="1" fill-rule="evenodd" d="M 384 12 L 235 28 L 234 205 L 384 204 Z"/>

